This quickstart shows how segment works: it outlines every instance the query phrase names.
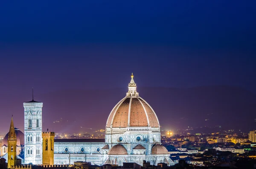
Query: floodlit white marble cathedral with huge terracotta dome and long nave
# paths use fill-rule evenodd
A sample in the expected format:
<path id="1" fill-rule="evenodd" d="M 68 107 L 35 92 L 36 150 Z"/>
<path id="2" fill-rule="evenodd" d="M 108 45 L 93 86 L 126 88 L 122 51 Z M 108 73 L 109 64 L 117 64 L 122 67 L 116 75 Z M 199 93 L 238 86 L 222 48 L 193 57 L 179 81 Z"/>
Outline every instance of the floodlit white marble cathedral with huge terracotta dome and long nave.
<path id="1" fill-rule="evenodd" d="M 139 96 L 133 74 L 126 96 L 112 109 L 104 139 L 55 139 L 54 163 L 87 161 L 97 165 L 123 162 L 174 165 L 160 143 L 160 124 L 154 110 Z"/>

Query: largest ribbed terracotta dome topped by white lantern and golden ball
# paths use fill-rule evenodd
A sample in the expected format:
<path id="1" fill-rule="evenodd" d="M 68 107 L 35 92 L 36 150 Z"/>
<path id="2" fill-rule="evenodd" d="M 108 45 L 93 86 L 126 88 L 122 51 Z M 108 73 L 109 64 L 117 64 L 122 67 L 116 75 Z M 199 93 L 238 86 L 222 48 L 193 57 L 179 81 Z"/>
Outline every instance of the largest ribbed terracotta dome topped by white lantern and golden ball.
<path id="1" fill-rule="evenodd" d="M 159 127 L 157 115 L 151 106 L 139 97 L 133 74 L 126 97 L 119 101 L 108 116 L 106 127 Z"/>

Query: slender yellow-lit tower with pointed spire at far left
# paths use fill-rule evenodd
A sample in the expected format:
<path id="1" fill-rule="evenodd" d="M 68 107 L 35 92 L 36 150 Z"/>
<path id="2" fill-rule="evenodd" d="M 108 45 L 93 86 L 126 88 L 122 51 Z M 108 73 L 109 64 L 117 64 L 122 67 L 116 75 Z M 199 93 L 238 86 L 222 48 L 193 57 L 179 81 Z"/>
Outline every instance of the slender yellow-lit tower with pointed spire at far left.
<path id="1" fill-rule="evenodd" d="M 17 145 L 17 138 L 16 133 L 13 125 L 13 120 L 11 120 L 11 126 L 8 134 L 8 169 L 11 166 L 16 166 L 17 164 L 17 152 L 16 152 L 16 145 Z"/>

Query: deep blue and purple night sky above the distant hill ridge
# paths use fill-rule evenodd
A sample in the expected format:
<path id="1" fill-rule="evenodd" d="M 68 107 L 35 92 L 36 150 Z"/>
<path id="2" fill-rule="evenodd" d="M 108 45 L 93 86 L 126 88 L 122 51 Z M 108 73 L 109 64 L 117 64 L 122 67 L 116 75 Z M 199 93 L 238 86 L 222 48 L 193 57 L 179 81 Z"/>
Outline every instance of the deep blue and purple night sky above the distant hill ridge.
<path id="1" fill-rule="evenodd" d="M 140 86 L 256 92 L 255 20 L 255 0 L 0 2 L 1 100 L 126 87 L 131 72 Z"/>

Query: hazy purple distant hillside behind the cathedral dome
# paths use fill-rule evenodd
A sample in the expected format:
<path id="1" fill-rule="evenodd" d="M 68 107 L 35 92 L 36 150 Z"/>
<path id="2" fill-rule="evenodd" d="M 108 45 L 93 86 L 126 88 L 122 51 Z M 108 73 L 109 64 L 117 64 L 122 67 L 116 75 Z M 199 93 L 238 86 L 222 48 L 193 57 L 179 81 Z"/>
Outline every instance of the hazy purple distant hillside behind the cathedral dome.
<path id="1" fill-rule="evenodd" d="M 137 89 L 154 109 L 163 129 L 185 129 L 188 126 L 215 126 L 223 129 L 256 129 L 256 95 L 233 86 L 201 86 L 188 89 L 140 87 Z M 44 130 L 83 132 L 105 129 L 109 113 L 125 97 L 126 88 L 109 90 L 64 90 L 45 93 L 43 106 Z M 20 112 L 23 130 L 23 106 L 20 98 L 0 103 L 0 111 L 10 106 Z M 3 117 L 3 116 L 2 116 Z M 3 117 L 6 131 L 10 117 Z M 6 122 L 5 122 L 6 121 Z M 90 129 L 91 128 L 91 129 Z M 3 127 L 2 127 L 3 129 Z"/>

